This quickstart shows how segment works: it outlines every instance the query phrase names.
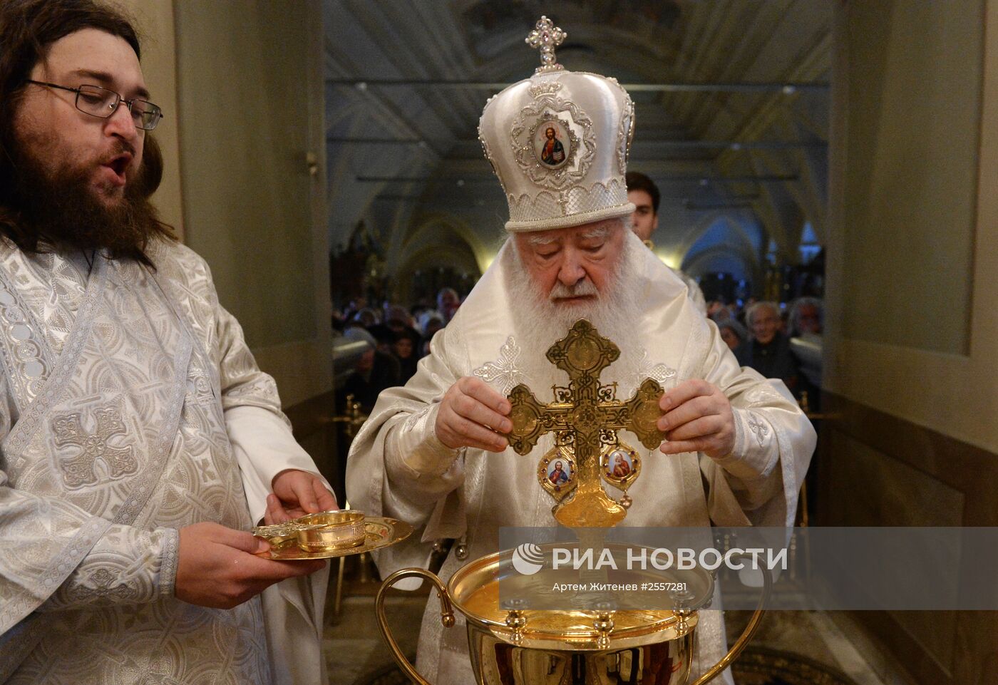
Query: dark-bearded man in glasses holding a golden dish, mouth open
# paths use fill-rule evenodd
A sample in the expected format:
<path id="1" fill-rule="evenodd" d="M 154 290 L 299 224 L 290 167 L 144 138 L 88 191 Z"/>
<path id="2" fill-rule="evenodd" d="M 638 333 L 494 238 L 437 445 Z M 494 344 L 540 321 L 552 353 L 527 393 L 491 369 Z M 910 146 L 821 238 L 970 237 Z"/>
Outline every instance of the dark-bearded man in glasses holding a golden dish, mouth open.
<path id="1" fill-rule="evenodd" d="M 3 0 L 0 46 L 0 683 L 322 682 L 324 562 L 248 531 L 335 500 L 149 202 L 135 30 Z"/>

